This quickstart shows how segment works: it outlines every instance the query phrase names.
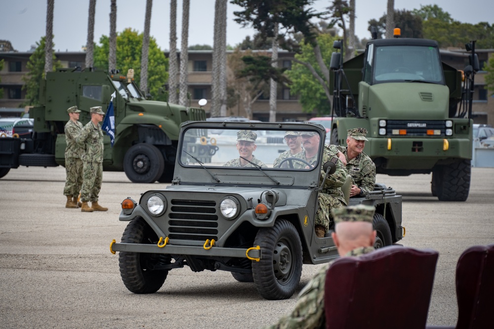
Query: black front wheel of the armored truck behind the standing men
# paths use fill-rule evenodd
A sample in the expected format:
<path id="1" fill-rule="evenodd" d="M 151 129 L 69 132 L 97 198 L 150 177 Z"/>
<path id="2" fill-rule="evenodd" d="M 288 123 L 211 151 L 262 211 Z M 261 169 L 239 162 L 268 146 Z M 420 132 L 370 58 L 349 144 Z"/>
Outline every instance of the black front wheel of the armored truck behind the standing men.
<path id="1" fill-rule="evenodd" d="M 124 156 L 124 172 L 133 183 L 154 183 L 165 168 L 165 160 L 158 147 L 139 143 L 130 147 Z"/>

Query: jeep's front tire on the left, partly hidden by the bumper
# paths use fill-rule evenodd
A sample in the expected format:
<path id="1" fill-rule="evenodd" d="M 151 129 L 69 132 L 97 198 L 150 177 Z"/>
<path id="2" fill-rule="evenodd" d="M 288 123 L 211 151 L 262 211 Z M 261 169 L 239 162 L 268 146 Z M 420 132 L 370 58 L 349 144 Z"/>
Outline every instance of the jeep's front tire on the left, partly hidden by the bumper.
<path id="1" fill-rule="evenodd" d="M 153 242 L 151 242 L 153 241 Z M 144 219 L 132 219 L 122 235 L 123 243 L 157 243 L 156 233 Z M 171 257 L 162 254 L 120 252 L 119 266 L 125 287 L 134 293 L 157 292 L 165 282 L 168 270 L 153 270 L 153 265 L 169 264 Z"/>

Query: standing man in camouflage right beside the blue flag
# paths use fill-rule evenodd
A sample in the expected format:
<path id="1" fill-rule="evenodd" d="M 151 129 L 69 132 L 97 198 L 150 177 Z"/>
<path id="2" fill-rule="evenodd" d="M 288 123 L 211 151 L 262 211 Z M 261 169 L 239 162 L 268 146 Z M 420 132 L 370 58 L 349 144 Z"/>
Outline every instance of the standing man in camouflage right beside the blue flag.
<path id="1" fill-rule="evenodd" d="M 91 121 L 83 128 L 77 138 L 77 143 L 85 149 L 82 161 L 83 183 L 81 190 L 81 211 L 107 211 L 108 208 L 98 205 L 98 195 L 103 180 L 103 131 L 99 122 L 103 121 L 105 113 L 100 106 L 92 107 L 90 110 Z M 91 202 L 91 207 L 87 202 Z"/>

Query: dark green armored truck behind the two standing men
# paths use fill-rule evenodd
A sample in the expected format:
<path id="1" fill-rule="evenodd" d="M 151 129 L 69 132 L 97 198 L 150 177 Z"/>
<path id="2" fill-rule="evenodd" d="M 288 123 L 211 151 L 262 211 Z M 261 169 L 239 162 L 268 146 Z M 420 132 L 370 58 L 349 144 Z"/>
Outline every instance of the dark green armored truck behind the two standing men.
<path id="1" fill-rule="evenodd" d="M 41 81 L 41 106 L 30 110 L 32 137 L 0 138 L 0 177 L 19 166 L 63 166 L 67 109 L 77 105 L 86 124 L 89 108 L 101 106 L 106 112 L 112 94 L 115 141 L 112 147 L 104 136 L 103 170 L 124 171 L 134 183 L 170 182 L 180 125 L 205 120 L 205 111 L 147 100 L 131 76 L 74 69 L 49 72 Z"/>

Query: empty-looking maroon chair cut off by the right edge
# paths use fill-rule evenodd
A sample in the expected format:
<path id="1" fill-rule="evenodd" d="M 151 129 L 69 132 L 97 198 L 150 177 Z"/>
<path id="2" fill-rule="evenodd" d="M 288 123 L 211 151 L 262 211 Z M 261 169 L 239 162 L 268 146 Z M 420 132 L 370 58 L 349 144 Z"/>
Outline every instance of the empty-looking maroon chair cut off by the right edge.
<path id="1" fill-rule="evenodd" d="M 456 327 L 428 326 L 428 329 L 494 328 L 494 245 L 473 246 L 456 264 Z"/>

